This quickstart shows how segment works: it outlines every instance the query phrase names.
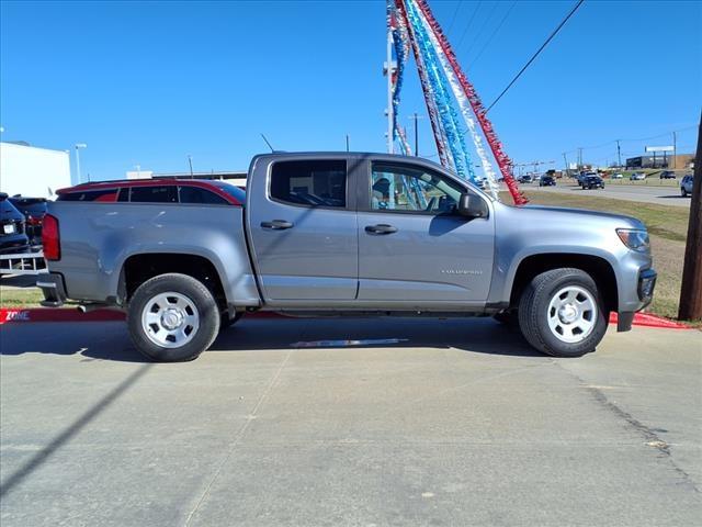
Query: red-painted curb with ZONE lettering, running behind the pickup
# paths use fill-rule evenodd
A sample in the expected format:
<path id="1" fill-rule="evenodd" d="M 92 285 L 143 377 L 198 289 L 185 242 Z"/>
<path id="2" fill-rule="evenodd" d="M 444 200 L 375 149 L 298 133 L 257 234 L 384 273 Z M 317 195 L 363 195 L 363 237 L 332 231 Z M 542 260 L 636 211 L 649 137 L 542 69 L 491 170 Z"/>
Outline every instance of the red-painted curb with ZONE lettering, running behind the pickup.
<path id="1" fill-rule="evenodd" d="M 251 318 L 288 318 L 286 315 L 268 312 L 251 313 L 246 316 Z M 31 322 L 120 322 L 124 319 L 124 312 L 116 310 L 95 310 L 80 313 L 78 310 L 60 307 L 0 309 L 0 325 Z M 610 315 L 610 324 L 616 324 L 616 313 Z M 665 329 L 691 329 L 684 324 L 652 315 L 650 313 L 636 313 L 633 325 Z"/>

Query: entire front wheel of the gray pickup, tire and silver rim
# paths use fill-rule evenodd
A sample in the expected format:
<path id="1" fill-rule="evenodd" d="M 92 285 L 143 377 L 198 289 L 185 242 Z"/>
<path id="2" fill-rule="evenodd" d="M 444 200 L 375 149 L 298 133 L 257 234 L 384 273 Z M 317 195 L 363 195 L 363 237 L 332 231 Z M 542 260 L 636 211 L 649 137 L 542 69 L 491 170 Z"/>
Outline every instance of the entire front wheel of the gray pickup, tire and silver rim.
<path id="1" fill-rule="evenodd" d="M 524 289 L 518 313 L 526 341 L 554 357 L 595 351 L 607 332 L 608 312 L 597 284 L 580 269 L 537 274 Z"/>

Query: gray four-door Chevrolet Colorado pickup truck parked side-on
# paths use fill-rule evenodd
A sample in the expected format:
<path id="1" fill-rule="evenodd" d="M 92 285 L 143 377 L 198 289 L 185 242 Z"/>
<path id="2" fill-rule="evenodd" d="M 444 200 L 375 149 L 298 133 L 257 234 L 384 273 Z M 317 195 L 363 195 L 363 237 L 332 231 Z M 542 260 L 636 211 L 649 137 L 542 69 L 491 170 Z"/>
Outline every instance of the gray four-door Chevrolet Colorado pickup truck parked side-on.
<path id="1" fill-rule="evenodd" d="M 492 315 L 574 357 L 611 312 L 631 329 L 656 281 L 637 220 L 510 206 L 439 165 L 382 154 L 257 156 L 246 193 L 188 179 L 66 189 L 44 254 L 44 305 L 125 310 L 135 346 L 160 361 L 197 357 L 256 311 Z"/>

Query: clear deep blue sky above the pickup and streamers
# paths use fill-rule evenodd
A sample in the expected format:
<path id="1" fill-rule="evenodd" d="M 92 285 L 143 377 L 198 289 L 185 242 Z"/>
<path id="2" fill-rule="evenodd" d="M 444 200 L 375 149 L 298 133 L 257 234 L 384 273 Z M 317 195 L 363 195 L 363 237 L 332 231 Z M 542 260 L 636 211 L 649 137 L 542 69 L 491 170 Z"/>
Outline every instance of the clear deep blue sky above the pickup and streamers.
<path id="1" fill-rule="evenodd" d="M 429 0 L 487 104 L 575 1 Z M 2 141 L 80 153 L 83 178 L 246 169 L 268 152 L 385 152 L 384 1 L 0 2 Z M 490 111 L 516 162 L 694 152 L 702 2 L 586 0 Z M 437 159 L 414 60 L 400 124 Z M 636 139 L 636 141 L 634 141 Z M 475 157 L 475 156 L 474 156 Z"/>

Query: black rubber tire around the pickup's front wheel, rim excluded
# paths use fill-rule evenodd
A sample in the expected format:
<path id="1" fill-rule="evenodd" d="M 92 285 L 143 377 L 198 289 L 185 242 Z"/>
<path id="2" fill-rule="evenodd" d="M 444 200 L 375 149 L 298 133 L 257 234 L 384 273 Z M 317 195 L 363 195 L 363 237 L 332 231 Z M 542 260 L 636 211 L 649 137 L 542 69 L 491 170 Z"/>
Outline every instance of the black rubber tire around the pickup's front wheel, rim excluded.
<path id="1" fill-rule="evenodd" d="M 596 306 L 596 313 L 590 314 L 593 326 L 578 343 L 562 340 L 548 325 L 551 301 L 556 293 L 568 287 L 586 290 Z M 604 337 L 609 318 L 595 280 L 587 272 L 573 268 L 553 269 L 537 274 L 522 292 L 518 314 L 519 327 L 526 341 L 539 351 L 554 357 L 580 357 L 595 351 Z"/>

